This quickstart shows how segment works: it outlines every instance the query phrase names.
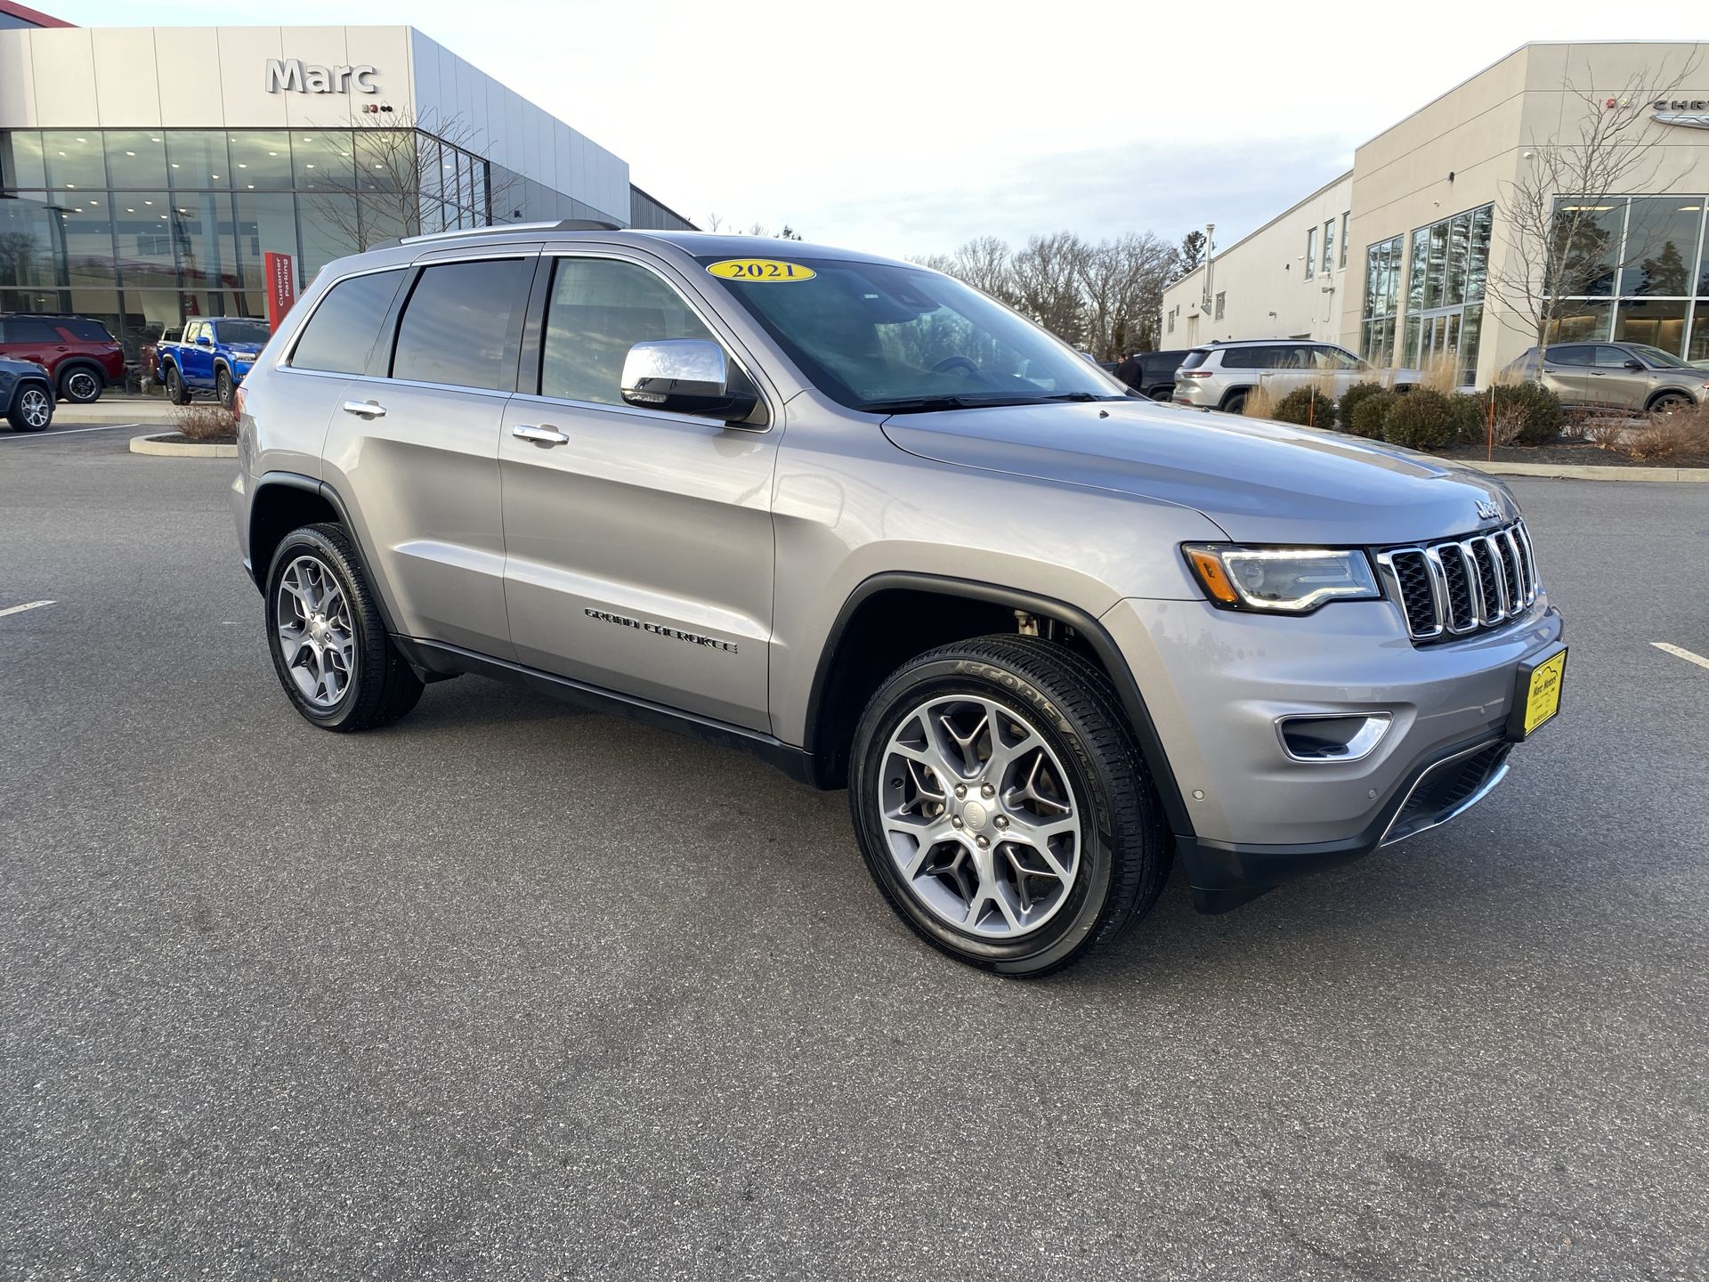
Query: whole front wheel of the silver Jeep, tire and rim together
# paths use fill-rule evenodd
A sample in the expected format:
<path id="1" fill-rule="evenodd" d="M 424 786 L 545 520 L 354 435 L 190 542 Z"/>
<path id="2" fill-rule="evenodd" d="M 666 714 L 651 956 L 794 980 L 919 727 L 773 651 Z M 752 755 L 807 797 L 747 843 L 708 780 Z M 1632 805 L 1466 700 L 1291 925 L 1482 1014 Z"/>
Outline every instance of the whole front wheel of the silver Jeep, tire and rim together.
<path id="1" fill-rule="evenodd" d="M 849 807 L 896 913 L 957 961 L 1037 976 L 1145 913 L 1169 843 L 1114 691 L 1032 638 L 933 650 L 854 733 Z"/>

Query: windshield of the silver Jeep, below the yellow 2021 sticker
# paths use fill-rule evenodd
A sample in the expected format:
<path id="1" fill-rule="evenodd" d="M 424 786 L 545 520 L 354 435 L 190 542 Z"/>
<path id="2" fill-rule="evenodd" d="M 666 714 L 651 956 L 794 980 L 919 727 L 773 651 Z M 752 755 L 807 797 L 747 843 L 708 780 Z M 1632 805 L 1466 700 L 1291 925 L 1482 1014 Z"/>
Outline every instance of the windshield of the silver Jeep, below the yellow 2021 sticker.
<path id="1" fill-rule="evenodd" d="M 1072 347 L 959 280 L 887 263 L 788 263 L 813 275 L 709 279 L 849 409 L 884 414 L 1126 395 Z"/>

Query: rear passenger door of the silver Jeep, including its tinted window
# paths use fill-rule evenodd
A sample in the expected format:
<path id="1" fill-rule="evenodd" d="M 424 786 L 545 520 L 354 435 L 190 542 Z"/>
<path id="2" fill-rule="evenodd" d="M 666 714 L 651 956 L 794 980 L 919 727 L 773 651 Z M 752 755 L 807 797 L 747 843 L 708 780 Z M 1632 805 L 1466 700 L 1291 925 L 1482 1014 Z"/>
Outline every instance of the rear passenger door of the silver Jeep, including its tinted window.
<path id="1" fill-rule="evenodd" d="M 538 246 L 417 260 L 326 432 L 326 479 L 408 636 L 511 658 L 499 427 Z"/>

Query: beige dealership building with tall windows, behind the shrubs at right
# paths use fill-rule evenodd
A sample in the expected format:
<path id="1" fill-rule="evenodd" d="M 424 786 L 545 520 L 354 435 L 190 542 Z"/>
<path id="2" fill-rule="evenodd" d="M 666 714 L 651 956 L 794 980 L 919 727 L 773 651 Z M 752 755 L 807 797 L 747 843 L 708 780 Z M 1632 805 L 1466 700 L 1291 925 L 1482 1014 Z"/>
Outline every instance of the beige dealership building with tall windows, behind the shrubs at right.
<path id="1" fill-rule="evenodd" d="M 1574 270 L 1552 340 L 1629 340 L 1709 359 L 1706 53 L 1695 43 L 1516 50 L 1172 282 L 1159 347 L 1323 338 L 1379 366 L 1449 362 L 1463 386 L 1489 385 L 1535 344 L 1530 315 L 1506 306 L 1512 291 L 1492 287 L 1516 280 L 1526 262 L 1504 202 L 1542 149 L 1579 137 L 1589 96 L 1593 109 L 1637 103 L 1634 137 L 1654 145 L 1613 195 L 1598 193 L 1588 222 L 1600 258 Z M 1641 97 L 1632 85 L 1644 85 Z M 1584 193 L 1545 195 L 1559 210 Z"/>

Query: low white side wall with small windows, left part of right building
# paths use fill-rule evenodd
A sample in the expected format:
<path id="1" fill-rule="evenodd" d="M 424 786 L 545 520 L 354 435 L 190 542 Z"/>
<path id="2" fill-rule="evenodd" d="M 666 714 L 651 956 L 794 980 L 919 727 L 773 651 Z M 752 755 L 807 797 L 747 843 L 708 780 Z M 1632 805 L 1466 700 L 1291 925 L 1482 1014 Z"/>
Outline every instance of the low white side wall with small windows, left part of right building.
<path id="1" fill-rule="evenodd" d="M 1313 191 L 1251 236 L 1219 250 L 1208 265 L 1210 309 L 1201 308 L 1207 267 L 1198 267 L 1164 291 L 1159 347 L 1191 347 L 1212 338 L 1340 340 L 1347 265 L 1342 255 L 1342 215 L 1348 212 L 1352 174 Z M 1333 224 L 1335 248 L 1323 270 L 1323 227 Z M 1306 275 L 1306 238 L 1314 231 L 1313 272 Z M 1217 318 L 1222 294 L 1222 318 Z"/>

